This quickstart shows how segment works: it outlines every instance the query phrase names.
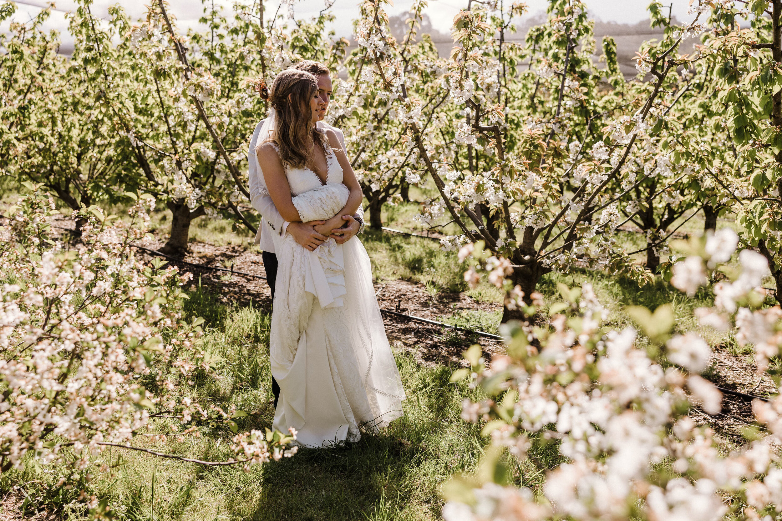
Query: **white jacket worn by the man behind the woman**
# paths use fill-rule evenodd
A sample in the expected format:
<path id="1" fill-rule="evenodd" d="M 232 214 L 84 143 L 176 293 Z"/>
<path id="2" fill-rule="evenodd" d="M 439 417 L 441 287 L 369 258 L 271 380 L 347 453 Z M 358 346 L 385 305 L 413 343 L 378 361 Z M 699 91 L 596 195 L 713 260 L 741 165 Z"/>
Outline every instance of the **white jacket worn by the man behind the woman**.
<path id="1" fill-rule="evenodd" d="M 253 207 L 260 213 L 260 225 L 258 226 L 258 233 L 255 236 L 255 244 L 258 244 L 260 249 L 264 250 L 264 252 L 274 253 L 274 241 L 272 241 L 271 234 L 278 233 L 284 235 L 285 230 L 288 229 L 289 223 L 285 219 L 282 219 L 277 207 L 274 206 L 271 195 L 268 194 L 266 189 L 264 173 L 260 170 L 258 158 L 255 155 L 255 148 L 258 144 L 258 134 L 260 134 L 260 127 L 263 126 L 264 120 L 260 120 L 260 123 L 255 127 L 253 137 L 249 140 L 249 152 L 247 152 L 247 160 L 249 162 L 249 197 L 253 202 Z M 345 136 L 342 130 L 332 127 L 328 123 L 322 121 L 317 122 L 317 127 L 334 130 L 343 150 L 347 151 Z M 358 211 L 356 212 L 356 217 L 362 221 L 364 220 L 364 209 L 362 209 L 361 206 L 359 206 Z"/>

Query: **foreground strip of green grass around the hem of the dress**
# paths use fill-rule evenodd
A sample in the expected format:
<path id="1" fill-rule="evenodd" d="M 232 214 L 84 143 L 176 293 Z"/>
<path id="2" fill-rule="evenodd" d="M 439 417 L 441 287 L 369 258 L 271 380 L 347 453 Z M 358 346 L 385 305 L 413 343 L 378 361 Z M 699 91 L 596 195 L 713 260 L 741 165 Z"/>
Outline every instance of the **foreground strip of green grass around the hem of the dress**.
<path id="1" fill-rule="evenodd" d="M 221 305 L 203 287 L 190 297 L 185 312 L 206 318 L 201 344 L 213 356 L 217 377 L 196 382 L 183 394 L 249 412 L 239 419 L 240 430 L 271 426 L 269 316 L 252 307 Z M 113 448 L 93 462 L 91 491 L 108 498 L 126 519 L 138 521 L 439 519 L 439 484 L 474 469 L 486 443 L 480 426 L 460 418 L 461 401 L 477 398 L 477 391 L 464 382 L 449 383 L 450 367 L 422 367 L 401 354 L 396 362 L 408 394 L 404 416 L 356 444 L 303 450 L 248 473 Z M 170 421 L 158 420 L 149 434 L 170 432 Z M 198 439 L 184 442 L 169 437 L 136 443 L 199 459 L 228 459 L 232 433 L 208 426 L 201 432 Z M 102 463 L 111 467 L 108 472 L 99 471 Z M 52 485 L 45 472 L 36 472 L 28 459 L 16 480 L 45 489 Z M 63 517 L 81 519 L 81 514 L 66 508 Z"/>

